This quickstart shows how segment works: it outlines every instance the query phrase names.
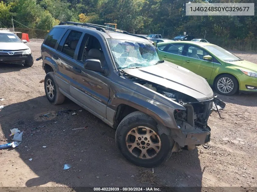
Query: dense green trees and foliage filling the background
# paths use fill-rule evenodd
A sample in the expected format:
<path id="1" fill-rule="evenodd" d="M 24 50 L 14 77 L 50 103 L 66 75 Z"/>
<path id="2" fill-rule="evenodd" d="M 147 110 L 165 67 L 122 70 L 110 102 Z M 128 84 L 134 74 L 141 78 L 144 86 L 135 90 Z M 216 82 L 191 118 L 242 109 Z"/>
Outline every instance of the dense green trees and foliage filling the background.
<path id="1" fill-rule="evenodd" d="M 117 23 L 118 29 L 137 34 L 158 33 L 166 38 L 187 32 L 197 38 L 257 40 L 255 16 L 186 16 L 189 0 L 4 0 L 0 2 L 0 24 L 50 29 L 60 21 Z M 191 0 L 190 2 L 246 2 L 242 0 Z M 19 24 L 20 22 L 21 24 Z M 256 44 L 256 43 L 255 43 Z"/>

